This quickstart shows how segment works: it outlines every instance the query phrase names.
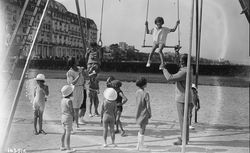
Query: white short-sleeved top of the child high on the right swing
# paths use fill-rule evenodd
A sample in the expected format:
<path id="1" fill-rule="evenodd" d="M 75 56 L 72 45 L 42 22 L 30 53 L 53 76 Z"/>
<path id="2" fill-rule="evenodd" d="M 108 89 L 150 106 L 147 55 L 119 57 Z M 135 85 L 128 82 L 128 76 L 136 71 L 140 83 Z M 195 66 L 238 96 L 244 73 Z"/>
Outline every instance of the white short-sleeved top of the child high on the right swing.
<path id="1" fill-rule="evenodd" d="M 150 34 L 153 35 L 153 43 L 154 44 L 164 44 L 167 40 L 167 35 L 170 33 L 171 29 L 168 27 L 162 27 L 161 29 L 158 29 L 157 27 L 153 28 L 150 31 Z"/>

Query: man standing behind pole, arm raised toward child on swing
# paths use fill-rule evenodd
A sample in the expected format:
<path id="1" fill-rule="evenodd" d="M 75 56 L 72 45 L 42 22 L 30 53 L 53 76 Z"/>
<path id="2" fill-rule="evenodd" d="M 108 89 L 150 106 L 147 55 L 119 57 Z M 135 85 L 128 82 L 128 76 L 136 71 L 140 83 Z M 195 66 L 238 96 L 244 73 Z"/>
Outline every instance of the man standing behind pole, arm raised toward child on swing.
<path id="1" fill-rule="evenodd" d="M 181 135 L 183 131 L 183 118 L 184 118 L 184 104 L 185 104 L 185 88 L 186 88 L 186 75 L 187 75 L 187 59 L 188 55 L 183 54 L 180 57 L 180 69 L 177 73 L 171 74 L 166 68 L 163 68 L 163 74 L 167 81 L 175 82 L 175 102 L 177 105 L 177 112 L 178 112 L 178 118 L 180 122 L 180 130 Z M 191 83 L 191 82 L 190 82 Z M 190 86 L 191 87 L 191 86 Z M 191 91 L 191 89 L 190 89 Z M 191 103 L 191 92 L 189 93 L 189 100 L 188 102 Z M 187 117 L 188 120 L 188 117 Z M 188 143 L 189 140 L 189 125 L 187 121 L 187 135 L 186 135 L 186 142 Z M 178 140 L 174 142 L 174 145 L 182 145 L 182 137 L 178 137 Z"/>

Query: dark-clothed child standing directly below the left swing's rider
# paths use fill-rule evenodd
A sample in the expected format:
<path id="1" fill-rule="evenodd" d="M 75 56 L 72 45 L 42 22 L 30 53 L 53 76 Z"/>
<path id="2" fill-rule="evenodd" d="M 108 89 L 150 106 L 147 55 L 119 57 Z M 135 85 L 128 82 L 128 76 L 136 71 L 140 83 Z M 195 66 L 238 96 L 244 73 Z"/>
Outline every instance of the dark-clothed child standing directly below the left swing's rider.
<path id="1" fill-rule="evenodd" d="M 89 76 L 89 116 L 100 116 L 98 113 L 98 105 L 99 105 L 99 99 L 98 94 L 99 92 L 99 81 L 96 78 L 97 74 L 93 74 Z M 92 114 L 92 105 L 94 104 L 95 113 Z"/>

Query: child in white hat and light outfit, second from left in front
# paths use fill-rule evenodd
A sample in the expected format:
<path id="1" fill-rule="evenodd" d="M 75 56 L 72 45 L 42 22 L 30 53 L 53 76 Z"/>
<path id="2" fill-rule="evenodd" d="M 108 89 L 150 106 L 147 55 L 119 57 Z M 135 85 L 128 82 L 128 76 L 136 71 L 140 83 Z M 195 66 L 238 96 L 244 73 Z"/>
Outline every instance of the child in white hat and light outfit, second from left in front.
<path id="1" fill-rule="evenodd" d="M 74 86 L 73 85 L 65 85 L 61 89 L 62 100 L 61 100 L 61 112 L 62 112 L 62 126 L 63 126 L 63 134 L 61 137 L 61 151 L 67 150 L 67 152 L 75 152 L 75 149 L 70 148 L 70 134 L 73 130 L 72 124 L 74 120 L 74 109 L 72 100 L 70 99 L 73 96 Z M 66 136 L 66 147 L 65 147 L 65 136 Z"/>

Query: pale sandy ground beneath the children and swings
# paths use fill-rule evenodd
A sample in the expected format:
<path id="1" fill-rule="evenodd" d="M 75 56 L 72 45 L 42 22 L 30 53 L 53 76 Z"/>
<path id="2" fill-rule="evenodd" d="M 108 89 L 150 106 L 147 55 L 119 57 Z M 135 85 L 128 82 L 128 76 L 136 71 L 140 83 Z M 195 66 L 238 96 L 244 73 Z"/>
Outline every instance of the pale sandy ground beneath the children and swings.
<path id="1" fill-rule="evenodd" d="M 13 89 L 17 81 L 12 82 Z M 25 88 L 32 84 L 29 80 Z M 47 135 L 33 135 L 32 104 L 22 91 L 11 132 L 7 142 L 9 148 L 23 148 L 27 152 L 60 152 L 60 88 L 66 84 L 65 79 L 47 79 L 50 95 L 44 112 L 44 129 Z M 13 97 L 10 89 L 9 99 Z M 105 89 L 105 82 L 100 82 L 100 92 Z M 127 137 L 116 136 L 117 148 L 103 149 L 101 144 L 102 127 L 99 117 L 85 115 L 86 125 L 82 131 L 72 136 L 72 147 L 77 152 L 137 152 L 138 127 L 135 125 L 135 91 L 134 82 L 123 82 L 122 90 L 128 97 L 124 106 L 122 122 L 128 133 Z M 145 144 L 147 152 L 180 152 L 180 146 L 172 142 L 179 136 L 179 123 L 174 102 L 174 84 L 149 83 L 146 89 L 150 93 L 152 119 L 146 130 Z M 12 95 L 12 96 L 11 96 Z M 243 87 L 199 86 L 201 109 L 198 123 L 191 131 L 188 152 L 249 152 L 249 89 Z M 103 96 L 99 94 L 102 102 Z M 87 100 L 87 105 L 89 101 Z M 10 110 L 10 104 L 5 110 Z M 6 115 L 8 113 L 5 113 Z M 108 140 L 110 141 L 110 140 Z"/>

